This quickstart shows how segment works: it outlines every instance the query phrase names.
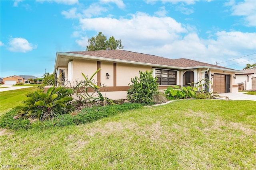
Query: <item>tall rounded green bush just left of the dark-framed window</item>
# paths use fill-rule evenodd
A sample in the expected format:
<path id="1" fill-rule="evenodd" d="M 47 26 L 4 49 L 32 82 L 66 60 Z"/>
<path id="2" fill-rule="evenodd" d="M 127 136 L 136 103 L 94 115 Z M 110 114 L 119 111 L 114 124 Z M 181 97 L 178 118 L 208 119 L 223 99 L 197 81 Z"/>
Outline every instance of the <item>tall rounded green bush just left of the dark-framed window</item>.
<path id="1" fill-rule="evenodd" d="M 148 70 L 139 72 L 140 77 L 136 76 L 131 79 L 132 85 L 128 84 L 130 89 L 127 91 L 127 100 L 130 102 L 150 103 L 158 90 L 157 77 L 153 76 L 152 70 L 150 72 Z"/>

